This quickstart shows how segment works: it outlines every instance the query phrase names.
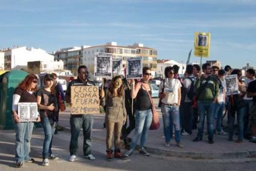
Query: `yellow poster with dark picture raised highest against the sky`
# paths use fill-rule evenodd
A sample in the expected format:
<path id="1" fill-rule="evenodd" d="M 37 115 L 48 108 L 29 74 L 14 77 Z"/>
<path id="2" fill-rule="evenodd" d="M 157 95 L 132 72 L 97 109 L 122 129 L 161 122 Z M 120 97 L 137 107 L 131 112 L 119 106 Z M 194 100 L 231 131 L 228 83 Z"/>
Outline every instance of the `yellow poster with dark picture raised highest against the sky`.
<path id="1" fill-rule="evenodd" d="M 194 55 L 208 58 L 210 56 L 210 40 L 210 33 L 196 32 L 194 39 Z"/>

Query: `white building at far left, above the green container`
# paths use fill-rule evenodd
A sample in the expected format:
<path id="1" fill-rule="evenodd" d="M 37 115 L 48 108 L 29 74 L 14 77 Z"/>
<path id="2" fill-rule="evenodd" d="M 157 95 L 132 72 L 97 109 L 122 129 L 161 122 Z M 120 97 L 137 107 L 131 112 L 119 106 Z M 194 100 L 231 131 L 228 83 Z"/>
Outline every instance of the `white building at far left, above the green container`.
<path id="1" fill-rule="evenodd" d="M 48 54 L 43 49 L 27 49 L 26 46 L 4 51 L 5 70 L 27 68 L 29 61 L 52 62 L 54 61 L 54 55 Z"/>

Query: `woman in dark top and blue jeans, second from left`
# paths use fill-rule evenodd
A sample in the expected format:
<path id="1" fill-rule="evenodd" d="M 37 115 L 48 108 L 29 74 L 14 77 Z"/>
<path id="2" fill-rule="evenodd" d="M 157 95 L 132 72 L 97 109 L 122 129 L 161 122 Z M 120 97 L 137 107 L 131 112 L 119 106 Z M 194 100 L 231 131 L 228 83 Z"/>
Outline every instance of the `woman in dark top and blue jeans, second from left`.
<path id="1" fill-rule="evenodd" d="M 37 92 L 37 105 L 39 106 L 39 113 L 43 131 L 45 132 L 45 140 L 43 141 L 43 166 L 49 166 L 49 159 L 58 160 L 52 154 L 52 136 L 55 131 L 55 124 L 57 121 L 58 102 L 55 96 L 54 77 L 51 74 L 46 74 L 43 77 L 45 87 L 42 87 Z"/>

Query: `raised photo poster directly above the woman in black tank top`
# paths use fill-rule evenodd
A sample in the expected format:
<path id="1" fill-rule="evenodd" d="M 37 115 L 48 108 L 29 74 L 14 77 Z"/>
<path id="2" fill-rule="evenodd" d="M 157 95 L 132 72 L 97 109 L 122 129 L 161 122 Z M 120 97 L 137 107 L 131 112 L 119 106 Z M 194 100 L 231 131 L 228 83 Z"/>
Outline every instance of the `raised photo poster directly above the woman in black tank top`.
<path id="1" fill-rule="evenodd" d="M 126 78 L 139 79 L 142 78 L 142 57 L 127 58 L 126 61 Z"/>

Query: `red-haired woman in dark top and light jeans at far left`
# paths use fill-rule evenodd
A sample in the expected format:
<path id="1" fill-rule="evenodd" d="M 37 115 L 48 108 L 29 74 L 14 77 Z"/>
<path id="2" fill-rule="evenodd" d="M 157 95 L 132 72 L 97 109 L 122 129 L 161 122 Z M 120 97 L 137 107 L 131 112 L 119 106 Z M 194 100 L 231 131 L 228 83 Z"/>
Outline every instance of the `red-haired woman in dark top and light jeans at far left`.
<path id="1" fill-rule="evenodd" d="M 24 161 L 34 162 L 34 159 L 30 158 L 30 140 L 34 122 L 20 122 L 17 111 L 19 102 L 37 102 L 35 93 L 37 90 L 37 81 L 38 78 L 36 75 L 27 75 L 14 90 L 12 110 L 14 126 L 16 128 L 16 167 L 22 167 Z M 40 117 L 37 117 L 37 122 L 40 122 Z"/>

